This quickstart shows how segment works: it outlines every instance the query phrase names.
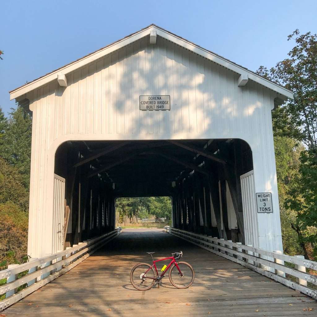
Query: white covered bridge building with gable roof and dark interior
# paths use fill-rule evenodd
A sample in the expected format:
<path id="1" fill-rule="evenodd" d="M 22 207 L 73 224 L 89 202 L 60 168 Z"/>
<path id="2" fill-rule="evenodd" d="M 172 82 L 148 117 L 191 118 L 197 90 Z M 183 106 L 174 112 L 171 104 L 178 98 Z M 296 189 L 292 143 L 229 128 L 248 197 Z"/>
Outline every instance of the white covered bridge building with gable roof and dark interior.
<path id="1" fill-rule="evenodd" d="M 271 110 L 288 97 L 156 25 L 12 90 L 33 118 L 28 254 L 113 230 L 115 199 L 138 196 L 170 196 L 174 228 L 281 250 Z"/>

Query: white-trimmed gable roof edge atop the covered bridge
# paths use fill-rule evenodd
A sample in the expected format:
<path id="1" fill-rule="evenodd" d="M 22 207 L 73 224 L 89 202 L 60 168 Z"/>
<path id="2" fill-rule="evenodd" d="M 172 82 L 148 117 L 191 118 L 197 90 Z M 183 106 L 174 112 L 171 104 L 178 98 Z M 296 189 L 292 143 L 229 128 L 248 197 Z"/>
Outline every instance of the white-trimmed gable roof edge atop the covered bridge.
<path id="1" fill-rule="evenodd" d="M 138 41 L 139 39 L 145 37 L 145 36 L 149 36 L 151 31 L 156 31 L 157 32 L 157 36 L 161 36 L 163 38 L 165 38 L 168 41 L 171 41 L 181 47 L 184 47 L 185 49 L 188 49 L 189 51 L 196 53 L 198 55 L 201 55 L 203 57 L 205 57 L 206 59 L 209 59 L 210 61 L 213 61 L 225 68 L 228 68 L 234 72 L 236 72 L 237 74 L 247 74 L 248 78 L 252 81 L 257 82 L 258 84 L 263 85 L 264 87 L 267 87 L 273 91 L 275 91 L 276 93 L 280 94 L 281 99 L 286 100 L 287 97 L 288 98 L 293 98 L 293 93 L 292 91 L 288 90 L 287 88 L 268 80 L 265 77 L 260 76 L 259 74 L 256 74 L 255 72 L 249 70 L 248 68 L 245 68 L 241 65 L 238 65 L 220 55 L 217 55 L 216 53 L 213 53 L 207 49 L 204 49 L 202 47 L 200 47 L 199 45 L 190 42 L 188 40 L 185 40 L 184 38 L 177 36 L 165 29 L 160 28 L 159 26 L 155 25 L 155 24 L 151 24 L 149 26 L 147 26 L 144 29 L 141 29 L 135 33 L 132 33 L 116 42 L 113 42 L 101 49 L 98 49 L 96 51 L 94 51 L 93 53 L 90 53 L 76 61 L 73 61 L 69 64 L 66 64 L 64 66 L 62 66 L 61 68 L 55 69 L 52 72 L 39 77 L 31 82 L 28 82 L 27 84 L 20 86 L 16 89 L 11 90 L 10 93 L 10 100 L 18 98 L 26 93 L 28 93 L 29 91 L 32 91 L 38 87 L 41 87 L 47 83 L 49 83 L 50 81 L 56 80 L 57 79 L 57 75 L 60 74 L 68 74 L 90 62 L 93 62 L 101 57 L 103 57 L 104 55 L 110 54 L 115 50 L 118 50 L 126 45 L 129 45 L 135 41 Z"/>

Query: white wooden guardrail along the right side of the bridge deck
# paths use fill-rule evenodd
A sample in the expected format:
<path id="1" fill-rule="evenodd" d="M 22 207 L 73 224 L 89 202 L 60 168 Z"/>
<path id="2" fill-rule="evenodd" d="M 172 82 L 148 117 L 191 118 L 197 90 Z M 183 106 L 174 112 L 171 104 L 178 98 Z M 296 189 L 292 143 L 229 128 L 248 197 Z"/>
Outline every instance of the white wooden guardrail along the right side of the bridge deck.
<path id="1" fill-rule="evenodd" d="M 165 227 L 166 231 L 203 249 L 239 263 L 257 273 L 265 275 L 290 288 L 317 300 L 316 290 L 307 286 L 307 282 L 317 285 L 317 275 L 306 273 L 306 268 L 317 270 L 317 262 L 305 260 L 303 256 L 288 256 L 281 251 L 270 252 L 254 248 L 251 245 L 234 243 L 230 240 L 218 239 L 189 231 Z M 292 263 L 293 267 L 284 262 Z M 288 276 L 293 278 L 288 279 Z M 296 282 L 293 281 L 296 279 Z"/>

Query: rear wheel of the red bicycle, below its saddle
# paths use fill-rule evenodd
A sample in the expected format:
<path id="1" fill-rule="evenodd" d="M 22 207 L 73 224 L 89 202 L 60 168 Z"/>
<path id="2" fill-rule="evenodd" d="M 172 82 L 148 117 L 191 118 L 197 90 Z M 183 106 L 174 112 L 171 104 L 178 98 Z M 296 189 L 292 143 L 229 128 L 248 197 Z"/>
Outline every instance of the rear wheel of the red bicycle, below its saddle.
<path id="1" fill-rule="evenodd" d="M 140 291 L 150 289 L 154 285 L 155 279 L 155 271 L 147 263 L 137 264 L 130 273 L 131 284 Z"/>

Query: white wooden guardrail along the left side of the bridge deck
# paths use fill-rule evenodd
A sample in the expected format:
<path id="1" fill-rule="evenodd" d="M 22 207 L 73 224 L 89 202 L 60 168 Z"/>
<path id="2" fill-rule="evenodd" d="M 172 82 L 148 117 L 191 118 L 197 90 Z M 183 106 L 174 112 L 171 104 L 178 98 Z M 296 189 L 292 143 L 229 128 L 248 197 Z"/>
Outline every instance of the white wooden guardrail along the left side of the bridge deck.
<path id="1" fill-rule="evenodd" d="M 7 283 L 0 286 L 0 295 L 6 294 L 6 298 L 0 301 L 0 312 L 68 272 L 120 232 L 121 228 L 119 227 L 97 238 L 73 245 L 64 251 L 39 259 L 30 258 L 27 263 L 9 265 L 7 269 L 0 271 L 0 280 L 7 279 Z M 22 272 L 26 274 L 18 278 Z M 18 287 L 25 284 L 26 288 L 17 291 Z"/>

